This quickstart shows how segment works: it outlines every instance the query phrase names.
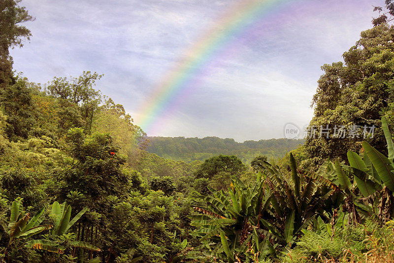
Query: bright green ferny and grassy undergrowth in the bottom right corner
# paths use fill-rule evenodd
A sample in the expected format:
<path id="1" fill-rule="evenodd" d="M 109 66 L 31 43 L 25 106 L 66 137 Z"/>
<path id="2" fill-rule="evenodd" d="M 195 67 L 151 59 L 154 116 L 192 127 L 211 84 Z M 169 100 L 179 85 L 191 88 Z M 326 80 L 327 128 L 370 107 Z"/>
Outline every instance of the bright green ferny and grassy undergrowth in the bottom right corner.
<path id="1" fill-rule="evenodd" d="M 357 226 L 317 233 L 306 230 L 304 236 L 280 259 L 283 263 L 394 263 L 394 221 L 384 226 L 367 221 Z"/>

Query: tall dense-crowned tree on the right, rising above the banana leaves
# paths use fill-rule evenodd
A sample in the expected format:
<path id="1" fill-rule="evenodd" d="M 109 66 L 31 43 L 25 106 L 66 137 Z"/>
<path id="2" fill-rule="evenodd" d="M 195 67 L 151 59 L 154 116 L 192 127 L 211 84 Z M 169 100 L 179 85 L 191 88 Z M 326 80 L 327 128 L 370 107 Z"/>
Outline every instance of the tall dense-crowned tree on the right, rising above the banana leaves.
<path id="1" fill-rule="evenodd" d="M 393 121 L 393 39 L 394 27 L 382 23 L 361 32 L 356 45 L 343 54 L 344 63 L 322 67 L 325 74 L 318 81 L 310 122 L 317 133 L 306 139 L 308 160 L 304 165 L 321 164 L 328 157 L 346 160 L 347 150 L 359 151 L 363 140 L 385 151 L 380 118 L 388 116 L 389 122 Z M 358 135 L 335 136 L 335 125 L 344 125 L 348 131 L 355 129 Z M 362 134 L 365 126 L 372 125 L 376 127 L 373 136 L 369 128 Z M 331 129 L 329 138 L 318 138 L 321 126 Z"/>

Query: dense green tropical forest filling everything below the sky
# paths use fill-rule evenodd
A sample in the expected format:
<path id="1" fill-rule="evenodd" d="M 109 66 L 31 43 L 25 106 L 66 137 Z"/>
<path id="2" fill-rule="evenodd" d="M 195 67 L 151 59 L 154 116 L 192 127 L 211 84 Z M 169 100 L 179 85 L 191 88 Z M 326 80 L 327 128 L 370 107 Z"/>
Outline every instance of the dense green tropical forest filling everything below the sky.
<path id="1" fill-rule="evenodd" d="M 98 73 L 17 74 L 34 18 L 0 1 L 0 262 L 394 262 L 394 3 L 374 10 L 313 97 L 317 134 L 353 136 L 299 145 L 147 138 Z"/>

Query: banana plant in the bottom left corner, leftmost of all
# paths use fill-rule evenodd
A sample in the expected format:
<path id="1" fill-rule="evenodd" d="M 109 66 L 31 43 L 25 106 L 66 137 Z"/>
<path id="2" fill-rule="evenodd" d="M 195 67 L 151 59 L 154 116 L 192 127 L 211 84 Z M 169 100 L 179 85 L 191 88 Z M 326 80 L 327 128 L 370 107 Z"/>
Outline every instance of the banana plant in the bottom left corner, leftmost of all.
<path id="1" fill-rule="evenodd" d="M 11 216 L 8 222 L 3 220 L 3 217 L 1 217 L 0 221 L 3 228 L 1 235 L 5 232 L 9 236 L 8 246 L 4 250 L 4 257 L 8 257 L 10 250 L 18 249 L 21 246 L 63 253 L 64 248 L 53 241 L 44 239 L 29 240 L 33 235 L 52 228 L 52 225 L 40 225 L 44 220 L 42 217 L 44 210 L 44 207 L 41 208 L 31 217 L 29 213 L 23 213 L 21 200 L 12 202 Z"/>

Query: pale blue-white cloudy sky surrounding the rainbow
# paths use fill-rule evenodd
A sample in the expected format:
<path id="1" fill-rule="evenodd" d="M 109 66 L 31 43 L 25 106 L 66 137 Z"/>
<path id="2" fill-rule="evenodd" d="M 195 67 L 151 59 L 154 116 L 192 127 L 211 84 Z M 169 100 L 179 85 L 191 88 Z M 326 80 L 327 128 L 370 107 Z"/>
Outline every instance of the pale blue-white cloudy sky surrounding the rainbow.
<path id="1" fill-rule="evenodd" d="M 137 125 L 150 119 L 142 126 L 150 136 L 283 138 L 286 123 L 311 119 L 320 67 L 342 59 L 384 1 L 261 1 L 254 12 L 241 6 L 256 0 L 23 0 L 36 20 L 30 43 L 11 50 L 14 69 L 42 84 L 104 74 L 97 88 Z M 143 112 L 166 75 L 183 76 L 179 60 L 215 40 L 212 29 L 225 38 L 194 54 L 205 56 L 197 73 L 157 112 Z"/>

